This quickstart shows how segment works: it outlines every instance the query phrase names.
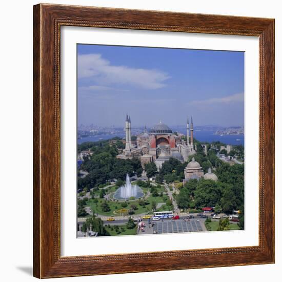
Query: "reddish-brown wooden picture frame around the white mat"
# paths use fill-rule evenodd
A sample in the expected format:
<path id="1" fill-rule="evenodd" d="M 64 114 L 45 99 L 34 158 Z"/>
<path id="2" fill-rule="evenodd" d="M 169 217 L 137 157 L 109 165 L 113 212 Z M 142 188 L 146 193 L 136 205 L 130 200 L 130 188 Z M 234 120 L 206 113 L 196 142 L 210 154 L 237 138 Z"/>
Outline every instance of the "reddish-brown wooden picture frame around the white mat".
<path id="1" fill-rule="evenodd" d="M 85 26 L 259 38 L 259 244 L 62 257 L 60 28 Z M 38 278 L 274 263 L 274 19 L 38 4 L 34 6 L 34 254 Z"/>

